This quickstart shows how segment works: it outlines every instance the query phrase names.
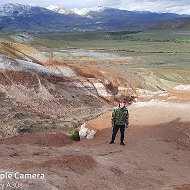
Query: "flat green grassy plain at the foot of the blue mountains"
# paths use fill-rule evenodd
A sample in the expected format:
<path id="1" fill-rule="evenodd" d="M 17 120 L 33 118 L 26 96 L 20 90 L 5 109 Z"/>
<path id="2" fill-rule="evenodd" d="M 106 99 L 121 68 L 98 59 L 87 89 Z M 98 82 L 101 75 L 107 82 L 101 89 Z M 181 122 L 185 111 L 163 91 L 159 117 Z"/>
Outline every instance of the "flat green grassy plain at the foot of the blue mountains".
<path id="1" fill-rule="evenodd" d="M 7 34 L 0 34 L 0 42 L 14 42 Z M 53 49 L 94 49 L 126 53 L 190 53 L 190 30 L 153 30 L 120 32 L 83 32 L 38 34 L 33 46 Z"/>

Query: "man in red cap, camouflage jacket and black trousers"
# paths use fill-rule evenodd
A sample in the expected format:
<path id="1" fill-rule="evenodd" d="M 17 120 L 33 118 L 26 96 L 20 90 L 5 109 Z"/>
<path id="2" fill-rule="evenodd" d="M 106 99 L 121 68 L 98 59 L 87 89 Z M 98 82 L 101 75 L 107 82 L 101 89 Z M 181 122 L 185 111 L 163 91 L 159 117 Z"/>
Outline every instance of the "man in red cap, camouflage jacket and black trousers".
<path id="1" fill-rule="evenodd" d="M 119 106 L 115 108 L 112 113 L 113 132 L 112 132 L 112 140 L 110 144 L 114 143 L 117 132 L 120 129 L 120 133 L 121 133 L 120 145 L 125 146 L 123 140 L 124 140 L 125 127 L 127 128 L 129 124 L 128 119 L 129 119 L 129 113 L 126 107 L 126 101 L 120 100 Z"/>

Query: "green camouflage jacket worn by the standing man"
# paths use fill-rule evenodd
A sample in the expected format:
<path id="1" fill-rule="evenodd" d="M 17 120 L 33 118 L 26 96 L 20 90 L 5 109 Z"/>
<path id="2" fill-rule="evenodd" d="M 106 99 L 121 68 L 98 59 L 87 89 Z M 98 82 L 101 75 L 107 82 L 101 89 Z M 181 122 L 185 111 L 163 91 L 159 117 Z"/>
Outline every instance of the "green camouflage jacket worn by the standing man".
<path id="1" fill-rule="evenodd" d="M 112 113 L 112 125 L 125 125 L 129 124 L 129 112 L 126 107 L 117 107 Z"/>

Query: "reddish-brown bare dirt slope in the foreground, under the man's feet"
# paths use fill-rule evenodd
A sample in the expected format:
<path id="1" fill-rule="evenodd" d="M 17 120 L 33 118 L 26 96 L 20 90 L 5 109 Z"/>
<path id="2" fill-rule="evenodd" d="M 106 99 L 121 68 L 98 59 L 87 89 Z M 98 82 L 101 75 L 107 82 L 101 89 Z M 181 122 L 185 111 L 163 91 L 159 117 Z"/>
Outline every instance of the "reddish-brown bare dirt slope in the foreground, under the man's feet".
<path id="1" fill-rule="evenodd" d="M 87 123 L 101 129 L 94 140 L 70 144 L 65 139 L 69 144 L 57 147 L 56 136 L 47 136 L 53 143 L 45 146 L 32 140 L 15 145 L 7 139 L 0 143 L 1 169 L 45 174 L 45 180 L 20 180 L 26 190 L 190 189 L 189 108 L 158 102 L 132 105 L 125 147 L 119 139 L 108 144 L 111 112 Z"/>

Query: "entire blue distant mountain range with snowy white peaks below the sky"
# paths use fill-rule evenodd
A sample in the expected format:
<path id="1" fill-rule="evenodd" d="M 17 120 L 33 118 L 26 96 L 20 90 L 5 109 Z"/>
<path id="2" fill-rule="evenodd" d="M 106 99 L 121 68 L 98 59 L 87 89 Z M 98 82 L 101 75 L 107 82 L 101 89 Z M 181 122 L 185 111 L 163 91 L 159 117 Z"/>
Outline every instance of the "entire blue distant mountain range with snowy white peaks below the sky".
<path id="1" fill-rule="evenodd" d="M 143 30 L 187 15 L 127 11 L 107 7 L 69 10 L 9 3 L 0 6 L 1 33 Z M 157 27 L 159 28 L 159 27 Z M 161 27 L 162 28 L 162 27 Z M 164 27 L 162 28 L 164 29 Z"/>

